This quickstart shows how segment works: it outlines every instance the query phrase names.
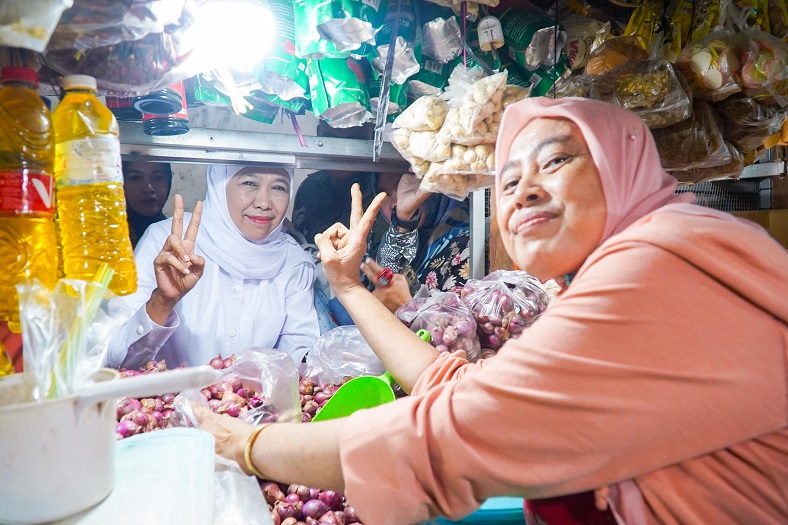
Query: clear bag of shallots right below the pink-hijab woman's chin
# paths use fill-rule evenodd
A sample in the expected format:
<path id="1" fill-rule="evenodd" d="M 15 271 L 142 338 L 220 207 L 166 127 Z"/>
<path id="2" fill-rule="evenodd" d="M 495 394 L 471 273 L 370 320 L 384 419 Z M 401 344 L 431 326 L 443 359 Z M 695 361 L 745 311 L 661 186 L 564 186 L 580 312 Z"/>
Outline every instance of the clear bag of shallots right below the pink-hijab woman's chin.
<path id="1" fill-rule="evenodd" d="M 497 270 L 484 279 L 469 279 L 460 294 L 476 320 L 482 346 L 493 353 L 541 315 L 549 302 L 538 279 L 523 271 Z"/>

